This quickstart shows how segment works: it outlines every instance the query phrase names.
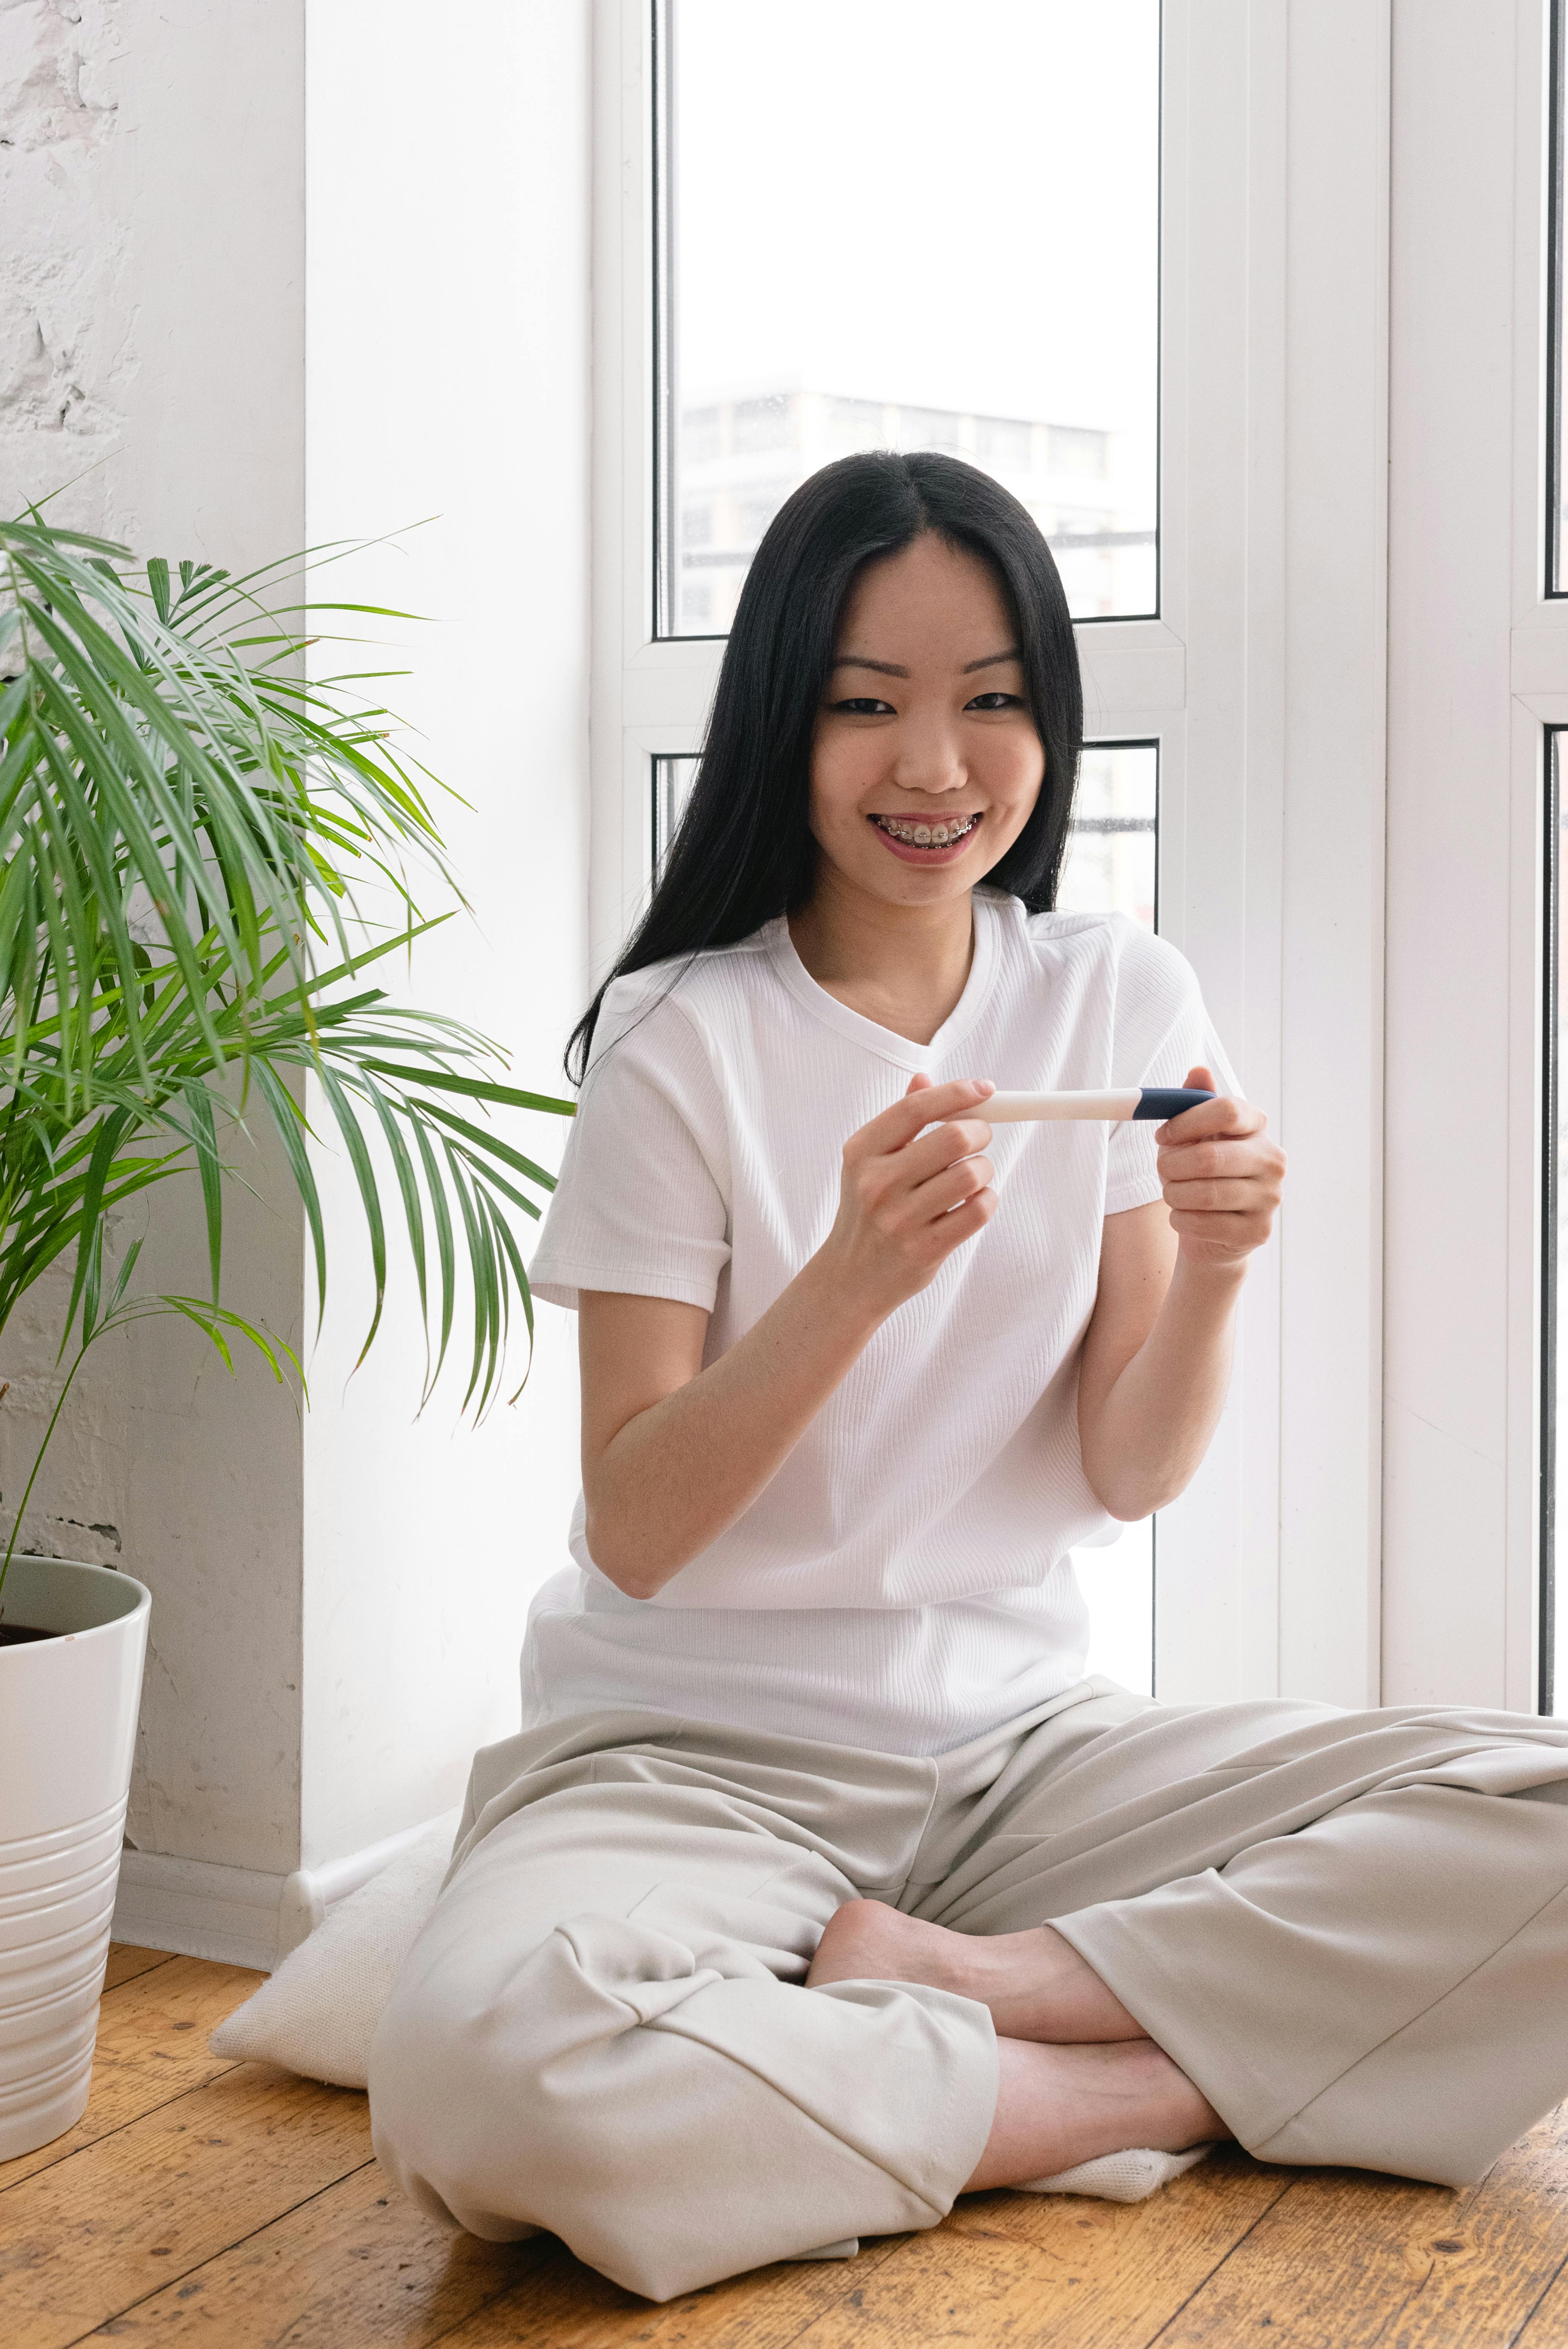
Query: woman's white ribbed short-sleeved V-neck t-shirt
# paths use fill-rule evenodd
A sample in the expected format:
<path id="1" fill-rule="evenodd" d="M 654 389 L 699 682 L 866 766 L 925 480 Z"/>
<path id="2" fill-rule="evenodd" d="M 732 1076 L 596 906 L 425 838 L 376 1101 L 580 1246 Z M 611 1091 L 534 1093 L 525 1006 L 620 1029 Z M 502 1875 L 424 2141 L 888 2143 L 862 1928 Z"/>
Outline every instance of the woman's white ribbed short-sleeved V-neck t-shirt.
<path id="1" fill-rule="evenodd" d="M 918 1069 L 1087 1090 L 1195 1062 L 1225 1071 L 1197 980 L 1124 916 L 976 890 L 969 980 L 930 1045 L 824 994 L 772 921 L 606 994 L 533 1290 L 704 1306 L 714 1360 L 822 1247 L 845 1139 Z M 577 1564 L 528 1618 L 528 1719 L 636 1705 L 932 1755 L 1082 1680 L 1070 1548 L 1110 1520 L 1077 1452 L 1077 1348 L 1103 1217 L 1160 1198 L 1155 1128 L 998 1125 L 988 1156 L 991 1224 L 653 1600 L 599 1574 L 577 1503 Z"/>

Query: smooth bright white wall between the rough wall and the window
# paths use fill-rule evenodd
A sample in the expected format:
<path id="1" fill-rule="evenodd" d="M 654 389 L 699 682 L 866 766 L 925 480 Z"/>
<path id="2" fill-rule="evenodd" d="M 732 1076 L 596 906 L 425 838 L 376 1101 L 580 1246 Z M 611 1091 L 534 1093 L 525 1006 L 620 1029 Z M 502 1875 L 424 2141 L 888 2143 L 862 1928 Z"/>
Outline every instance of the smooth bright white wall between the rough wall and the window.
<path id="1" fill-rule="evenodd" d="M 411 0 L 307 7 L 307 521 L 317 543 L 437 517 L 352 571 L 432 615 L 394 632 L 415 674 L 387 693 L 472 803 L 439 817 L 477 926 L 420 949 L 418 989 L 554 1095 L 587 984 L 587 5 L 481 0 L 462 40 L 430 33 Z M 556 1165 L 563 1123 L 528 1123 Z M 364 1243 L 333 1280 L 350 1261 L 364 1294 Z M 516 1729 L 523 1614 L 577 1482 L 575 1332 L 538 1322 L 521 1402 L 472 1433 L 465 1360 L 413 1426 L 411 1318 L 345 1384 L 364 1322 L 331 1311 L 305 1431 L 307 1865 L 455 1802 L 472 1748 Z"/>

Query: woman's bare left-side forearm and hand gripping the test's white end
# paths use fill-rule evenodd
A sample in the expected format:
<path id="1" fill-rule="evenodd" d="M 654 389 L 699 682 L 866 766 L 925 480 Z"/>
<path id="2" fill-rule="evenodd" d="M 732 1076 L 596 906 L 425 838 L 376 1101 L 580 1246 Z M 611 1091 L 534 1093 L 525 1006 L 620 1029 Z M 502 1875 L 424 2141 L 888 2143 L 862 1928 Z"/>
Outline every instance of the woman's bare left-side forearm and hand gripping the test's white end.
<path id="1" fill-rule="evenodd" d="M 845 1144 L 833 1231 L 707 1369 L 702 1306 L 582 1294 L 587 1546 L 629 1597 L 653 1597 L 735 1525 L 894 1306 L 988 1224 L 991 1128 L 965 1111 L 991 1090 L 918 1076 L 861 1125 Z"/>

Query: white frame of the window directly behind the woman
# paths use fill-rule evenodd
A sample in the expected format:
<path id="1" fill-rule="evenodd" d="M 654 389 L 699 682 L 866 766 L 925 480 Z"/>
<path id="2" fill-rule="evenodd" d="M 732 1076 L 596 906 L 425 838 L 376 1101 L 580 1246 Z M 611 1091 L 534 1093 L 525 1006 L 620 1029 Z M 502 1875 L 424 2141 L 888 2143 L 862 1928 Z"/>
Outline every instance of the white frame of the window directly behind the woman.
<path id="1" fill-rule="evenodd" d="M 653 637 L 648 26 L 594 0 L 596 972 L 723 651 Z M 1077 632 L 1087 733 L 1160 742 L 1160 928 L 1293 1158 L 1160 1515 L 1164 1698 L 1378 1689 L 1387 52 L 1387 0 L 1167 0 L 1162 618 Z"/>

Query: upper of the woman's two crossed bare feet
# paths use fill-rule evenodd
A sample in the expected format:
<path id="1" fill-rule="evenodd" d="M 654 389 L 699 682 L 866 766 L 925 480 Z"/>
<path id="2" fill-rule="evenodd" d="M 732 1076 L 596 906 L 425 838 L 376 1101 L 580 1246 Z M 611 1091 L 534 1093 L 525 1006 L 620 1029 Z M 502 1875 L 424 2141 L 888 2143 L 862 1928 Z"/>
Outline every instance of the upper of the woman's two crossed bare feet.
<path id="1" fill-rule="evenodd" d="M 1049 1924 L 1028 1933 L 953 1933 L 944 1924 L 906 1917 L 885 1900 L 845 1900 L 829 1917 L 805 1976 L 807 1990 L 822 1983 L 930 1983 L 932 1990 L 955 1990 L 991 2008 L 1002 2039 L 1073 2046 L 1143 2039 L 1143 2025 L 1134 2022 L 1094 1966 Z"/>

